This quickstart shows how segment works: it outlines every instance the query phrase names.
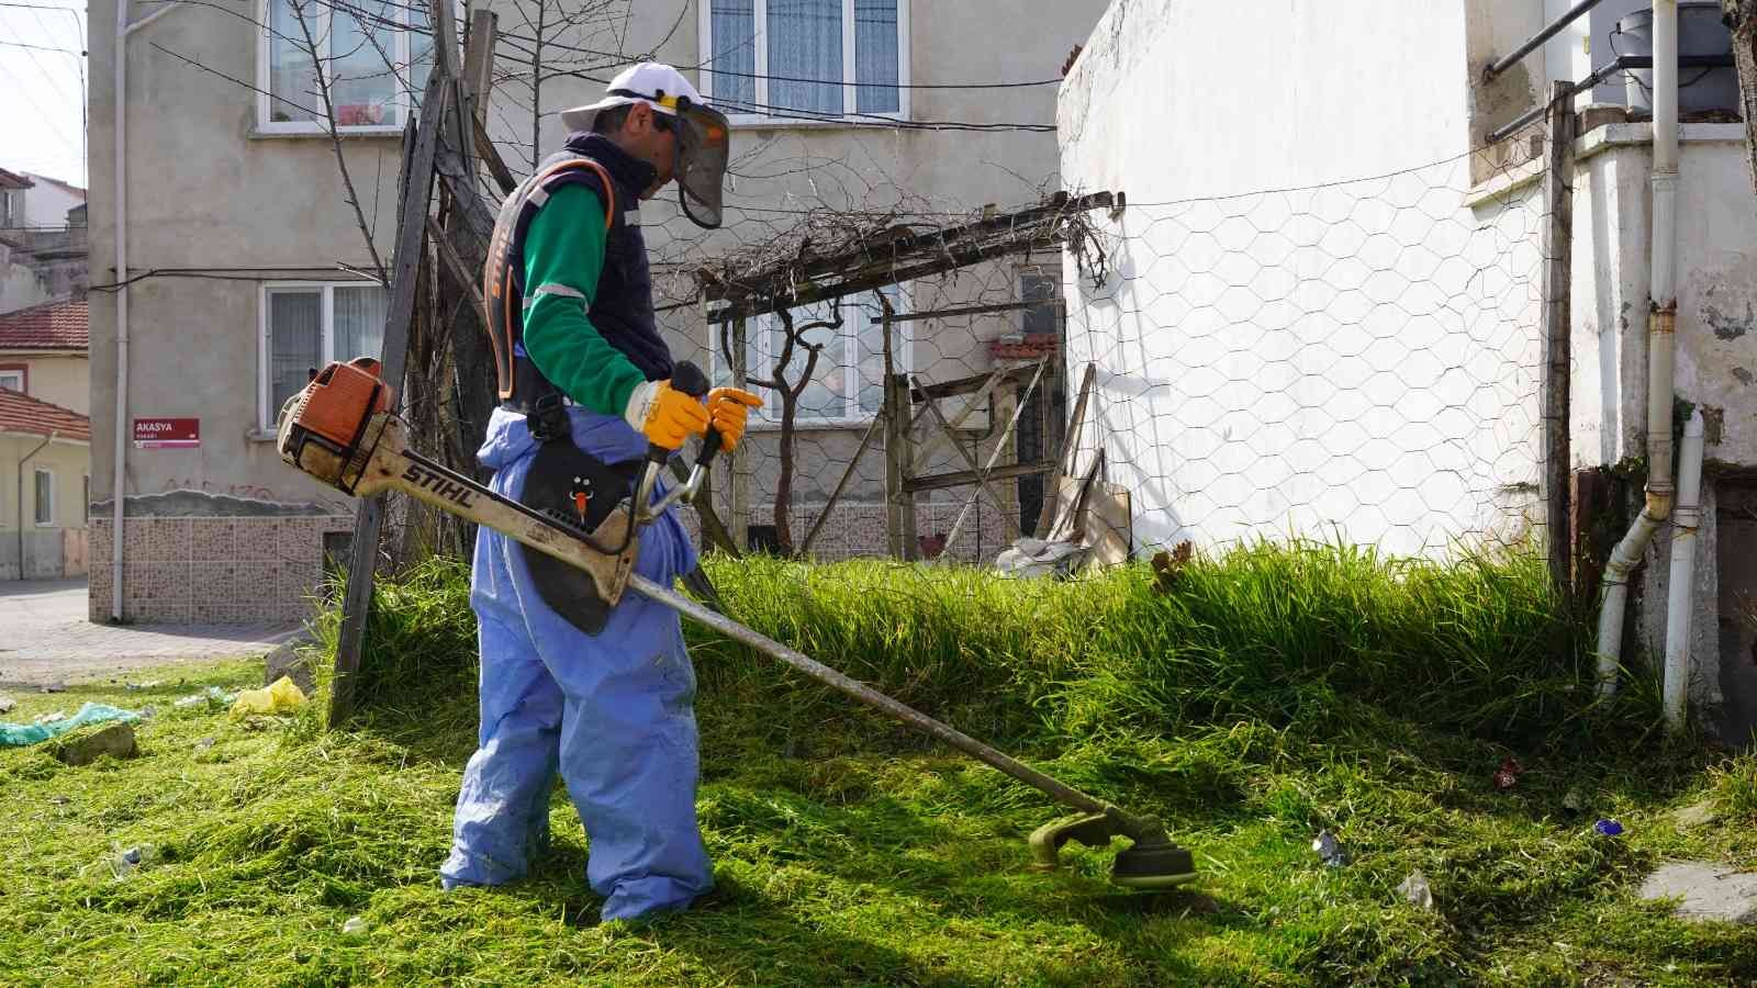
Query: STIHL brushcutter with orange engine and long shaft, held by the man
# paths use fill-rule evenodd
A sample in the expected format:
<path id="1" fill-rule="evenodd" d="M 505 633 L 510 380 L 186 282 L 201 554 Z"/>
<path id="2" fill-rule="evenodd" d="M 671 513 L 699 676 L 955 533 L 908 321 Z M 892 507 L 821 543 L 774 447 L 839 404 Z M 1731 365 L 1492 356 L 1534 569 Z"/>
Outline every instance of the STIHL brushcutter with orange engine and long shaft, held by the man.
<path id="1" fill-rule="evenodd" d="M 708 390 L 706 378 L 692 364 L 678 364 L 671 385 L 698 397 Z M 1116 884 L 1151 890 L 1170 888 L 1195 877 L 1195 861 L 1189 851 L 1172 844 L 1156 817 L 1124 812 L 1066 786 L 799 650 L 757 635 L 743 624 L 634 573 L 640 527 L 673 503 L 689 503 L 696 496 L 708 462 L 719 452 L 720 436 L 717 432 L 710 431 L 705 438 L 689 478 L 659 501 L 652 501 L 652 494 L 669 454 L 657 447 L 650 448 L 633 496 L 620 501 L 615 512 L 604 515 L 594 531 L 585 531 L 571 524 L 564 512 L 539 512 L 503 498 L 469 476 L 411 450 L 408 425 L 390 411 L 390 403 L 392 390 L 378 378 L 376 360 L 357 359 L 323 367 L 302 392 L 281 408 L 276 438 L 281 459 L 344 494 L 369 498 L 385 490 L 401 490 L 453 515 L 488 526 L 531 548 L 580 568 L 610 607 L 627 591 L 659 601 L 691 621 L 770 654 L 887 717 L 931 735 L 1074 807 L 1079 810 L 1077 816 L 1045 823 L 1031 833 L 1031 858 L 1038 868 L 1054 868 L 1056 853 L 1068 840 L 1105 847 L 1114 837 L 1126 837 L 1133 840 L 1133 846 L 1117 853 L 1112 863 L 1110 881 Z M 585 517 L 583 510 L 580 517 Z"/>

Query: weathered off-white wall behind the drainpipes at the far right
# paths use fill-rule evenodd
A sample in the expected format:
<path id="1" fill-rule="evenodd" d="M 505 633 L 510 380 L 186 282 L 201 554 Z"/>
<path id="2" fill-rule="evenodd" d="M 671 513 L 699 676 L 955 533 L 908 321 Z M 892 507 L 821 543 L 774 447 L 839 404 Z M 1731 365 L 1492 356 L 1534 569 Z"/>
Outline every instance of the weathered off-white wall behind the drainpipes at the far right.
<path id="1" fill-rule="evenodd" d="M 1750 508 L 1745 476 L 1757 466 L 1757 193 L 1743 141 L 1738 123 L 1683 125 L 1676 248 L 1674 394 L 1701 406 L 1708 424 L 1690 698 L 1731 744 L 1741 744 L 1757 723 L 1757 691 L 1741 672 L 1750 665 L 1743 610 L 1757 584 L 1748 566 L 1722 571 L 1739 556 L 1738 547 L 1722 545 L 1722 529 L 1748 533 L 1739 512 Z M 1609 123 L 1576 142 L 1573 461 L 1576 468 L 1627 468 L 1638 482 L 1646 455 L 1650 169 L 1648 123 Z M 1727 499 L 1731 508 L 1722 506 Z M 1664 654 L 1671 534 L 1673 526 L 1660 527 L 1638 578 L 1645 607 L 1636 649 L 1648 661 Z M 1722 708 L 1725 721 L 1717 716 Z"/>

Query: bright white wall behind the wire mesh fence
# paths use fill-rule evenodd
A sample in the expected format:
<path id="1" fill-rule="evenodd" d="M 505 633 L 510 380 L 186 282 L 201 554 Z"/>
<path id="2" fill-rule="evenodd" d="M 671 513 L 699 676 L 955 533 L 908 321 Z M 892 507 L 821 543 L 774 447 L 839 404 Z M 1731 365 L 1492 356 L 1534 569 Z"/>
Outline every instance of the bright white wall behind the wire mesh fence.
<path id="1" fill-rule="evenodd" d="M 1070 258 L 1068 364 L 1100 366 L 1139 543 L 1414 552 L 1523 524 L 1539 230 L 1529 192 L 1471 195 L 1483 14 L 1119 2 L 1100 23 L 1061 90 L 1063 179 L 1128 207 L 1098 218 L 1103 281 Z M 1239 72 L 1246 51 L 1279 70 Z"/>

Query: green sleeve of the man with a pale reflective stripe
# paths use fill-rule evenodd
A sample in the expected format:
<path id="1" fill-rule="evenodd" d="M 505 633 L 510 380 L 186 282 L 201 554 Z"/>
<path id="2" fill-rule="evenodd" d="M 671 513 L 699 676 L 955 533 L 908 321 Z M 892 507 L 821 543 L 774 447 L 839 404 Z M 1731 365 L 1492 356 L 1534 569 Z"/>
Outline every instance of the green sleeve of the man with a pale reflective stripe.
<path id="1" fill-rule="evenodd" d="M 525 232 L 524 294 L 536 299 L 525 309 L 525 353 L 568 397 L 601 415 L 622 415 L 647 374 L 587 318 L 603 269 L 603 202 L 582 185 L 559 188 Z M 562 290 L 543 292 L 545 285 Z"/>

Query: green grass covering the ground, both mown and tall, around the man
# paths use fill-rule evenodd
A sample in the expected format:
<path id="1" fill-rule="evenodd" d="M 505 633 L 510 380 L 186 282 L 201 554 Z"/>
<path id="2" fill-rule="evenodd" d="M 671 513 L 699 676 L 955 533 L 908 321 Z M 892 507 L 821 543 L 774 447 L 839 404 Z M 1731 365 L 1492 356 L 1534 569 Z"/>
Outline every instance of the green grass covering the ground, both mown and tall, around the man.
<path id="1" fill-rule="evenodd" d="M 436 563 L 374 591 L 364 712 L 344 731 L 322 730 L 322 696 L 292 717 L 170 708 L 209 684 L 260 684 L 244 665 L 19 696 L 12 719 L 84 700 L 160 714 L 128 761 L 0 752 L 0 983 L 1757 977 L 1752 930 L 1634 897 L 1662 858 L 1750 860 L 1757 761 L 1666 745 L 1645 673 L 1595 703 L 1541 559 L 1295 545 L 1170 578 L 771 559 L 710 573 L 740 621 L 1160 814 L 1200 883 L 1128 893 L 1105 881 L 1109 851 L 1079 846 L 1033 872 L 1024 837 L 1063 809 L 691 629 L 719 888 L 685 914 L 599 925 L 585 833 L 557 789 L 531 877 L 446 895 L 436 870 L 474 747 L 476 666 L 466 571 Z M 1502 791 L 1490 775 L 1509 756 L 1523 772 Z M 1703 798 L 1720 819 L 1678 830 L 1671 810 Z M 1627 833 L 1592 833 L 1601 816 Z M 1312 853 L 1321 828 L 1348 865 Z M 107 858 L 144 844 L 156 860 L 116 879 Z M 1395 891 L 1413 868 L 1434 912 Z M 343 932 L 351 916 L 362 934 Z"/>

